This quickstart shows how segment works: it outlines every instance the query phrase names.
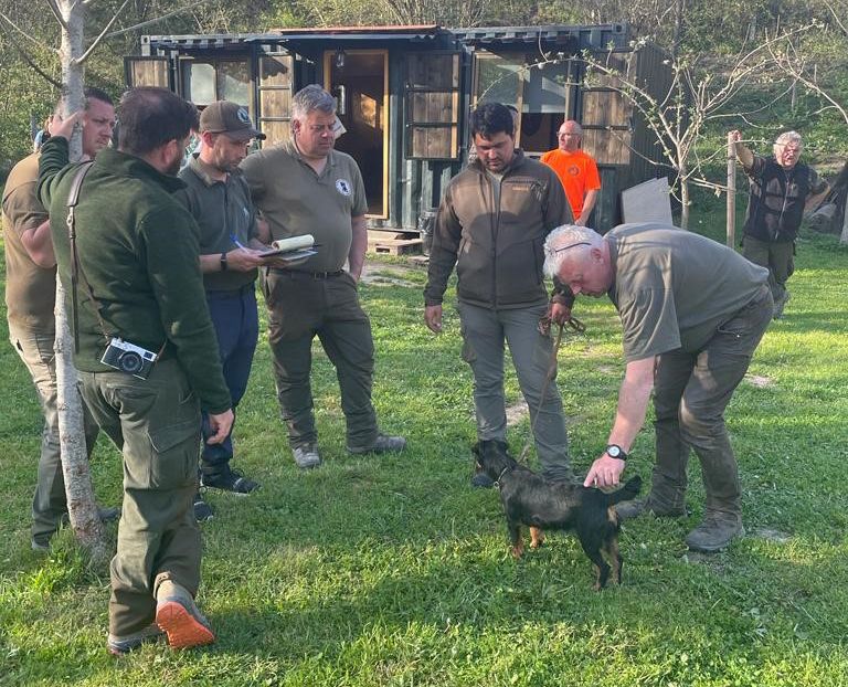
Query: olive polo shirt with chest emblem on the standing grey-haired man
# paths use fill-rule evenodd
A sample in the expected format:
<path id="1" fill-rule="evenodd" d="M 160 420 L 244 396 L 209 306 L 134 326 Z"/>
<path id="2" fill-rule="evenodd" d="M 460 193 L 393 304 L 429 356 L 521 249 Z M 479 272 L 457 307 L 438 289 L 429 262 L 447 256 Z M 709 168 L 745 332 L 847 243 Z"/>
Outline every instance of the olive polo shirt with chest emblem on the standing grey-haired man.
<path id="1" fill-rule="evenodd" d="M 244 178 L 274 239 L 312 234 L 318 254 L 298 269 L 341 269 L 350 252 L 351 218 L 365 214 L 362 175 L 352 157 L 330 150 L 320 175 L 294 142 L 264 148 L 242 162 Z"/>

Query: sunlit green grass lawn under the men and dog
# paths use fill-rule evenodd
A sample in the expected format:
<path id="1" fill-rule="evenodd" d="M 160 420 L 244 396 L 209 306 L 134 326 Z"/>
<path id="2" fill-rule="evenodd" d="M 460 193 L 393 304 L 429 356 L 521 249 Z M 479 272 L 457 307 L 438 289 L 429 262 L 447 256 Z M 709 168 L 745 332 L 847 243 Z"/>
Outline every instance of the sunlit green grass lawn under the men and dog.
<path id="1" fill-rule="evenodd" d="M 693 458 L 691 517 L 628 522 L 625 583 L 601 593 L 571 537 L 553 535 L 520 562 L 508 556 L 497 493 L 468 485 L 471 374 L 458 317 L 446 307 L 445 334 L 431 335 L 424 271 L 386 263 L 381 274 L 413 284 L 361 287 L 374 403 L 409 448 L 346 453 L 338 385 L 316 346 L 325 464 L 297 469 L 262 340 L 234 465 L 263 488 L 208 495 L 218 516 L 202 526 L 200 603 L 218 642 L 186 653 L 159 644 L 110 657 L 107 571 L 88 567 L 66 531 L 50 556 L 30 550 L 41 420 L 23 366 L 0 346 L 0 685 L 848 685 L 848 251 L 835 237 L 799 245 L 786 318 L 728 411 L 749 536 L 724 553 L 687 554 L 703 498 Z M 565 337 L 558 384 L 585 473 L 605 445 L 623 362 L 610 303 L 580 299 L 575 314 L 586 334 Z M 520 395 L 511 370 L 507 393 Z M 516 453 L 528 432 L 527 419 L 511 430 Z M 628 474 L 649 477 L 653 442 L 648 424 Z M 92 469 L 99 501 L 117 504 L 120 458 L 104 438 Z"/>

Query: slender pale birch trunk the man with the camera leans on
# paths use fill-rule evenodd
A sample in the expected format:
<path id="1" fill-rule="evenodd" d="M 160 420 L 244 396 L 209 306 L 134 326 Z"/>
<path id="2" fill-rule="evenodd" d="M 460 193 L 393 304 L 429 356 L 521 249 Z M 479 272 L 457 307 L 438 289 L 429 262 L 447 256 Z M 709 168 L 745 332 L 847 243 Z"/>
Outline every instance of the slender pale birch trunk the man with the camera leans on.
<path id="1" fill-rule="evenodd" d="M 62 110 L 63 116 L 82 109 L 83 65 L 76 60 L 83 55 L 83 31 L 85 7 L 82 0 L 59 0 L 65 25 L 62 27 Z M 71 138 L 71 160 L 82 157 L 82 134 L 76 127 Z M 65 495 L 71 527 L 80 543 L 91 553 L 92 559 L 102 561 L 110 556 L 106 535 L 97 515 L 92 478 L 88 472 L 88 455 L 85 445 L 83 406 L 77 392 L 76 368 L 73 362 L 73 338 L 65 310 L 65 293 L 56 279 L 56 387 L 59 406 L 59 437 L 62 452 L 62 473 L 65 478 Z"/>

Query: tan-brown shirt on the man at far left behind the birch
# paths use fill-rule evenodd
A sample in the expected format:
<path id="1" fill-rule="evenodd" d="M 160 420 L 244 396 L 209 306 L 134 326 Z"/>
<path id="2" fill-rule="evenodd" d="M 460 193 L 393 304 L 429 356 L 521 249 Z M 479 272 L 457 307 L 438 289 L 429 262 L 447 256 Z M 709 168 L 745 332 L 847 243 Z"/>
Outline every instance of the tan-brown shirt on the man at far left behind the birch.
<path id="1" fill-rule="evenodd" d="M 38 229 L 47 211 L 38 197 L 39 155 L 12 168 L 3 190 L 6 246 L 6 307 L 10 323 L 40 334 L 55 330 L 56 268 L 39 267 L 21 242 L 21 234 Z"/>

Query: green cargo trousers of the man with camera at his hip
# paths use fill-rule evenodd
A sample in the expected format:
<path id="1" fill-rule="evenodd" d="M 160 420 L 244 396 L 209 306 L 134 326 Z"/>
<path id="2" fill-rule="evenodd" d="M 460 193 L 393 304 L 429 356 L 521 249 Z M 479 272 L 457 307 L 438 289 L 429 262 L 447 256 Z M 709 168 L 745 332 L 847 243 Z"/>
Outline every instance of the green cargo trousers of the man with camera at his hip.
<path id="1" fill-rule="evenodd" d="M 124 505 L 112 559 L 109 632 L 128 635 L 156 615 L 156 590 L 170 579 L 192 595 L 200 585 L 198 488 L 200 403 L 176 359 L 150 377 L 80 372 L 83 397 L 124 454 Z"/>

